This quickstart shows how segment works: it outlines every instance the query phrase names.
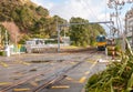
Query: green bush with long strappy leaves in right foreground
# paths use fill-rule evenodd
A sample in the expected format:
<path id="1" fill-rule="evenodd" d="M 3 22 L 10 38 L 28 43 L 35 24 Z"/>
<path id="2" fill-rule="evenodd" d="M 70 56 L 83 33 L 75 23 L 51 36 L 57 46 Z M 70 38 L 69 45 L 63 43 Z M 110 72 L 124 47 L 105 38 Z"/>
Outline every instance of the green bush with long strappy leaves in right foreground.
<path id="1" fill-rule="evenodd" d="M 133 53 L 127 43 L 121 62 L 113 62 L 103 72 L 92 75 L 85 92 L 132 92 L 133 91 Z"/>

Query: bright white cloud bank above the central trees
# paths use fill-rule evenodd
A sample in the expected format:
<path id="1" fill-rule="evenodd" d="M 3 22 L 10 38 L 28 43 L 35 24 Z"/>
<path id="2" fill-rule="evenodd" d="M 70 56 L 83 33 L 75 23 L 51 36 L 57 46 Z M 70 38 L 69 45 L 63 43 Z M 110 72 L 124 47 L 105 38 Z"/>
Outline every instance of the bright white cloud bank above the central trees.
<path id="1" fill-rule="evenodd" d="M 103 14 L 103 1 L 98 4 L 94 0 L 68 0 L 62 4 L 55 4 L 51 8 L 51 14 L 59 14 L 65 19 L 70 19 L 71 17 L 81 17 L 91 21 L 96 21 Z"/>

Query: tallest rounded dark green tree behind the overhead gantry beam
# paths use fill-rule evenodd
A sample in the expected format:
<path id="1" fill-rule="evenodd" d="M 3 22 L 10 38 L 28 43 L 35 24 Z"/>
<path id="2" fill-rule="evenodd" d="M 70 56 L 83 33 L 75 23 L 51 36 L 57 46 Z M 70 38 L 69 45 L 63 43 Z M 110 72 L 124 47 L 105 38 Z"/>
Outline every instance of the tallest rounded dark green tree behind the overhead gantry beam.
<path id="1" fill-rule="evenodd" d="M 89 21 L 81 18 L 71 18 L 70 23 L 89 23 Z M 72 44 L 86 47 L 90 43 L 90 30 L 88 28 L 88 24 L 73 24 L 70 27 L 70 39 Z"/>

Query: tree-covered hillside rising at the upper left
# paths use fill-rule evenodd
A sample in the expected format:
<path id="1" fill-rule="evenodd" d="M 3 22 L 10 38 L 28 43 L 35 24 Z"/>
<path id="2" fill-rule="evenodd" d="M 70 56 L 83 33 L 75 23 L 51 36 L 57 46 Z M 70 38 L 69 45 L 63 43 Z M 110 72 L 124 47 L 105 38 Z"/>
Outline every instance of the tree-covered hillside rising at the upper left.
<path id="1" fill-rule="evenodd" d="M 65 21 L 58 16 L 51 17 L 48 9 L 30 0 L 0 0 L 0 23 L 4 25 L 10 34 L 16 33 L 16 27 L 18 27 L 18 33 L 23 34 L 24 39 L 32 37 L 50 38 L 55 34 L 57 19 L 60 22 Z M 13 38 L 13 35 L 10 38 Z M 12 41 L 14 40 L 12 39 Z"/>

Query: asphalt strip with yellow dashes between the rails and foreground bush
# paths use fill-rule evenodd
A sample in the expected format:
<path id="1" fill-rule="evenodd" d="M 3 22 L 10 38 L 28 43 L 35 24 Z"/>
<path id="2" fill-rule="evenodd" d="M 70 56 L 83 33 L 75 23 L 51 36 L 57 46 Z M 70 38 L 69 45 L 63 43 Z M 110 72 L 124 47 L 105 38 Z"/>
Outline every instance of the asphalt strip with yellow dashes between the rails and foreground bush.
<path id="1" fill-rule="evenodd" d="M 88 79 L 105 69 L 109 62 L 98 62 L 103 54 L 93 55 L 91 59 L 85 60 L 82 64 L 69 71 L 66 78 L 58 83 L 54 83 L 49 89 L 42 92 L 84 92 Z M 103 58 L 105 60 L 105 57 Z"/>

